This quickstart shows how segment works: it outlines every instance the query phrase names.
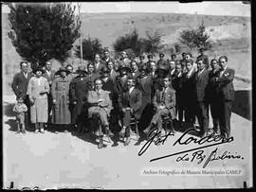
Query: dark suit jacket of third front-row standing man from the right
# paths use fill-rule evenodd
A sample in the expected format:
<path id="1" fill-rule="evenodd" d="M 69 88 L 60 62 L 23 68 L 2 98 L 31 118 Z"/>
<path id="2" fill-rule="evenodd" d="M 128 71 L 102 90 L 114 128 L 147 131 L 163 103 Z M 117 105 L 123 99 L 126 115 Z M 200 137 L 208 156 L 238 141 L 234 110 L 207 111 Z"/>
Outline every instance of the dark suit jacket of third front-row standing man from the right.
<path id="1" fill-rule="evenodd" d="M 205 68 L 199 78 L 198 73 L 199 72 L 196 72 L 194 75 L 196 100 L 208 101 L 207 91 L 209 85 L 209 70 Z"/>

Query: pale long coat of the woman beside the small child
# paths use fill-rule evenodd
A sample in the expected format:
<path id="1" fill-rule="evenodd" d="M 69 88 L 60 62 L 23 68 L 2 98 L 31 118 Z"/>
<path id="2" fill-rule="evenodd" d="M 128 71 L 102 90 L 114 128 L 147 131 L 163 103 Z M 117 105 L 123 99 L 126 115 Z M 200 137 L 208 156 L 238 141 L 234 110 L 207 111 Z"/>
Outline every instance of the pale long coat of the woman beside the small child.
<path id="1" fill-rule="evenodd" d="M 32 77 L 28 81 L 27 95 L 34 103 L 30 107 L 31 123 L 46 123 L 48 120 L 47 95 L 40 95 L 41 92 L 49 93 L 49 84 L 46 78 Z"/>

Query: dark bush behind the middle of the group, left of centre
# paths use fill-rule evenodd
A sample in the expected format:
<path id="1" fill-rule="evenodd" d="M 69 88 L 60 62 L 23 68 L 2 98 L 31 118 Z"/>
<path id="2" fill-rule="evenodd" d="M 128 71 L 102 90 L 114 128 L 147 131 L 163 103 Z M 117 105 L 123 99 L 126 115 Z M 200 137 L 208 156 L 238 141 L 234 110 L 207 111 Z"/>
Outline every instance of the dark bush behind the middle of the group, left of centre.
<path id="1" fill-rule="evenodd" d="M 131 33 L 120 36 L 113 44 L 113 47 L 117 52 L 132 49 L 138 56 L 141 53 L 141 45 L 142 41 L 138 38 L 137 29 L 134 29 Z"/>

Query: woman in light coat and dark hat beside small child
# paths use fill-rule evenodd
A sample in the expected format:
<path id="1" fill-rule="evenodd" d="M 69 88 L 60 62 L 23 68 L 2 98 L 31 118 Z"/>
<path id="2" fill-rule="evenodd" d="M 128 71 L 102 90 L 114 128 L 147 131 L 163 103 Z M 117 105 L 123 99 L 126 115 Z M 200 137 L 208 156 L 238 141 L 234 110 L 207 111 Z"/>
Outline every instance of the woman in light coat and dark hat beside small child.
<path id="1" fill-rule="evenodd" d="M 35 132 L 45 132 L 44 124 L 48 120 L 48 102 L 47 94 L 49 93 L 49 84 L 46 78 L 42 77 L 44 70 L 37 67 L 32 77 L 28 81 L 27 95 L 31 103 L 30 119 L 35 124 Z"/>

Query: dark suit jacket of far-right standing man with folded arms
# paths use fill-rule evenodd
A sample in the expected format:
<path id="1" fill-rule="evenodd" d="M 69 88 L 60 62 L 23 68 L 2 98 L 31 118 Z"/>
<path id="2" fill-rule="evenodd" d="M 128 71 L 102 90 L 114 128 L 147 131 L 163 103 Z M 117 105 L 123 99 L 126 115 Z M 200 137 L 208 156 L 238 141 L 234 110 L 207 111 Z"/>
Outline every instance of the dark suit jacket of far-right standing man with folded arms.
<path id="1" fill-rule="evenodd" d="M 222 100 L 234 100 L 234 79 L 235 71 L 227 67 L 223 76 L 217 80 L 218 88 L 217 92 Z"/>

